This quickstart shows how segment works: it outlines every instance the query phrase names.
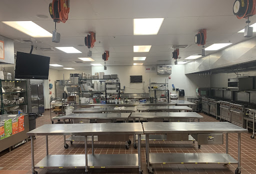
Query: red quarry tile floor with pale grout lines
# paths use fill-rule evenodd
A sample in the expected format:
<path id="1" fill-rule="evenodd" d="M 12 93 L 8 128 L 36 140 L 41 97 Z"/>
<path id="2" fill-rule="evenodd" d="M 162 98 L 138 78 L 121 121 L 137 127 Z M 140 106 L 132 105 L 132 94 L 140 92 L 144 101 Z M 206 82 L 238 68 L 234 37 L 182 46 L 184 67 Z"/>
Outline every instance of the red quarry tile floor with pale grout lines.
<path id="1" fill-rule="evenodd" d="M 214 122 L 215 118 L 200 113 L 204 118 L 201 122 Z M 51 124 L 49 111 L 44 116 L 36 119 L 36 126 Z M 256 140 L 250 138 L 250 133 L 241 134 L 241 174 L 256 174 Z M 131 139 L 131 137 L 130 137 Z M 229 154 L 237 160 L 237 134 L 229 134 Z M 224 136 L 225 141 L 225 136 Z M 89 143 L 90 144 L 90 143 Z M 50 136 L 48 138 L 49 154 L 84 154 L 83 142 L 68 143 L 69 148 L 63 148 L 62 136 Z M 44 136 L 37 136 L 34 140 L 35 164 L 45 157 Z M 137 151 L 131 147 L 124 148 L 124 142 L 95 142 L 95 154 L 132 154 Z M 142 170 L 147 174 L 145 163 L 145 142 L 142 141 Z M 150 142 L 150 152 L 155 153 L 225 153 L 223 145 L 202 145 L 198 150 L 197 143 L 192 142 Z M 25 143 L 9 153 L 0 157 L 0 174 L 31 174 L 31 150 L 30 142 Z M 91 154 L 90 145 L 88 153 Z M 153 166 L 155 174 L 234 174 L 237 165 L 156 165 Z M 38 174 L 84 174 L 84 170 L 78 169 L 38 169 Z M 137 169 L 93 169 L 93 174 L 138 174 Z"/>

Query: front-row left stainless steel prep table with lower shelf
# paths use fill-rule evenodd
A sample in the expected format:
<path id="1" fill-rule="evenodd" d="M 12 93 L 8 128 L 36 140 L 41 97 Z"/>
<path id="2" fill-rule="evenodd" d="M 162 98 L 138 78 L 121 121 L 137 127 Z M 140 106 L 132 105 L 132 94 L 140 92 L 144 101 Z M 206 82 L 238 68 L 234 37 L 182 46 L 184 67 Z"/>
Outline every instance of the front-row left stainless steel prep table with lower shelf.
<path id="1" fill-rule="evenodd" d="M 138 154 L 106 154 L 87 155 L 87 136 L 91 135 L 123 135 L 138 134 Z M 88 174 L 88 168 L 138 168 L 141 170 L 141 148 L 140 135 L 143 134 L 143 128 L 140 123 L 89 123 L 89 124 L 54 124 L 43 125 L 27 133 L 31 137 L 31 162 L 32 174 L 37 174 L 34 169 L 85 169 Z M 48 154 L 48 136 L 56 135 L 80 135 L 84 136 L 84 155 L 49 155 Z M 38 164 L 34 165 L 34 147 L 33 137 L 45 136 L 46 157 Z M 93 146 L 93 143 L 92 143 Z"/>

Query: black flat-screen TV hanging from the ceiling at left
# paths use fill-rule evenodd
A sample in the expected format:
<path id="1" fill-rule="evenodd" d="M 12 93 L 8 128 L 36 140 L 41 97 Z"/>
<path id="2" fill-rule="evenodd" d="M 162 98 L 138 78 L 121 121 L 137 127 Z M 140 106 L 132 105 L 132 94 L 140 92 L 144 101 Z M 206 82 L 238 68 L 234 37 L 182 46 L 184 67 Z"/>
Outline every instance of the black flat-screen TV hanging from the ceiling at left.
<path id="1" fill-rule="evenodd" d="M 50 57 L 18 52 L 16 54 L 16 79 L 48 79 Z"/>

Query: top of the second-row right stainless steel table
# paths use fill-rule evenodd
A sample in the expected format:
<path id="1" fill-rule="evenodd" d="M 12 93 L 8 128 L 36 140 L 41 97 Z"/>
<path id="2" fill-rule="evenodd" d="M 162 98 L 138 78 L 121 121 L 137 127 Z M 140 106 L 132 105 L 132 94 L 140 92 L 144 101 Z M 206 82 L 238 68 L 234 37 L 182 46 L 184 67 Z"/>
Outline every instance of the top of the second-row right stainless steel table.
<path id="1" fill-rule="evenodd" d="M 130 118 L 144 119 L 202 119 L 203 117 L 196 112 L 134 112 Z"/>

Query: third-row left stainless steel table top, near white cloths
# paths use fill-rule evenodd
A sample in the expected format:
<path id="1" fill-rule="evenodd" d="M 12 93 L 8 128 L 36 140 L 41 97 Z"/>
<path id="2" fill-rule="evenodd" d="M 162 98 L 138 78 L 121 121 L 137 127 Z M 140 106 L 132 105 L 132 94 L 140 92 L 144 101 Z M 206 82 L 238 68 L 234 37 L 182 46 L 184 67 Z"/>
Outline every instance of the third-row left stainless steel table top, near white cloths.
<path id="1" fill-rule="evenodd" d="M 126 107 L 124 110 L 115 110 L 114 107 L 98 107 L 98 108 L 80 108 L 73 111 L 73 113 L 101 113 L 101 112 L 136 112 L 134 107 Z"/>

